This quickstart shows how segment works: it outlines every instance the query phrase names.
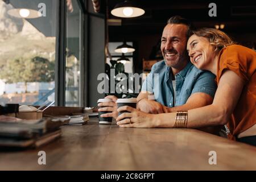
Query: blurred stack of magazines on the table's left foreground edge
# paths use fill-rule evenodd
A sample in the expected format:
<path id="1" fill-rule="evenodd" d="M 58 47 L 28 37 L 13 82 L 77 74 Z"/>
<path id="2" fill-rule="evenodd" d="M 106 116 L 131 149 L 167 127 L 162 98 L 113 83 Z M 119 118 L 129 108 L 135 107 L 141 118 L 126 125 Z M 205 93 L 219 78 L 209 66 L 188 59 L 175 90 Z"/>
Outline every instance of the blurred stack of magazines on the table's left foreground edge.
<path id="1" fill-rule="evenodd" d="M 0 115 L 0 147 L 39 147 L 61 136 L 63 122 L 52 119 L 24 120 Z"/>

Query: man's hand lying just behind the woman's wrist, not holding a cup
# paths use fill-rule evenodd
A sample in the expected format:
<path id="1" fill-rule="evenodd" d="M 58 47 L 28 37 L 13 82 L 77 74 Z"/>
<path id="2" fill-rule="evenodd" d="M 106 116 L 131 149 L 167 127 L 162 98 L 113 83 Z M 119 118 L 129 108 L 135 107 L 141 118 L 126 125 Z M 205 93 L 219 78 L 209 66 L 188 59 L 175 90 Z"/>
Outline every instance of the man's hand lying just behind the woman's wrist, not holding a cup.
<path id="1" fill-rule="evenodd" d="M 168 107 L 163 106 L 159 102 L 154 100 L 148 100 L 147 98 L 143 98 L 137 103 L 137 109 L 151 114 L 160 114 L 160 113 L 168 113 Z"/>

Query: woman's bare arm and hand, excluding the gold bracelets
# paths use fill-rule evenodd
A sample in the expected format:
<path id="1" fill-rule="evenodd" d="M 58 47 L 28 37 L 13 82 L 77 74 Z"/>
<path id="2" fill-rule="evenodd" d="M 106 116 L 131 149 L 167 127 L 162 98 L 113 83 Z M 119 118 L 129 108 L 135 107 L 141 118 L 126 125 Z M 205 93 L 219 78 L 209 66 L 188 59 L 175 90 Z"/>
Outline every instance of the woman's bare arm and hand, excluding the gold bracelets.
<path id="1" fill-rule="evenodd" d="M 227 123 L 237 105 L 242 89 L 242 78 L 232 71 L 225 71 L 220 78 L 213 104 L 188 110 L 187 127 L 207 127 Z M 118 111 L 123 110 L 131 113 L 119 115 L 117 124 L 121 127 L 174 127 L 175 124 L 176 113 L 146 114 L 127 106 L 118 109 Z"/>

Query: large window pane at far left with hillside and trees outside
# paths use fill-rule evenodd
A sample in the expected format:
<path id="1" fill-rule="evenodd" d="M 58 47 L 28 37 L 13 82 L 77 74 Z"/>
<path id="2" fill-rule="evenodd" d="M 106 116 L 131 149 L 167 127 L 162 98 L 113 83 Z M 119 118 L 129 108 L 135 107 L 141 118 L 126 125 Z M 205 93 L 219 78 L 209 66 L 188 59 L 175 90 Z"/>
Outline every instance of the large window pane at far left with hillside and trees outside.
<path id="1" fill-rule="evenodd" d="M 54 100 L 57 3 L 0 1 L 0 105 Z"/>

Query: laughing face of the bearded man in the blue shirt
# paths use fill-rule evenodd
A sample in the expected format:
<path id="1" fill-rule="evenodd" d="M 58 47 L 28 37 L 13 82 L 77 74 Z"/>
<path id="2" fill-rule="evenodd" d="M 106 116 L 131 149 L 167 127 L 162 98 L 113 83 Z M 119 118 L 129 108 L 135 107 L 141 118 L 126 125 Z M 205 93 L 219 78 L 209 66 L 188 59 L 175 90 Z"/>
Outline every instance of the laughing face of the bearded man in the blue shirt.
<path id="1" fill-rule="evenodd" d="M 161 51 L 168 67 L 183 68 L 187 63 L 187 26 L 167 24 L 161 38 Z"/>

